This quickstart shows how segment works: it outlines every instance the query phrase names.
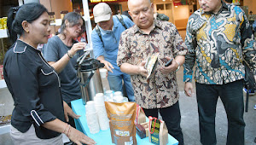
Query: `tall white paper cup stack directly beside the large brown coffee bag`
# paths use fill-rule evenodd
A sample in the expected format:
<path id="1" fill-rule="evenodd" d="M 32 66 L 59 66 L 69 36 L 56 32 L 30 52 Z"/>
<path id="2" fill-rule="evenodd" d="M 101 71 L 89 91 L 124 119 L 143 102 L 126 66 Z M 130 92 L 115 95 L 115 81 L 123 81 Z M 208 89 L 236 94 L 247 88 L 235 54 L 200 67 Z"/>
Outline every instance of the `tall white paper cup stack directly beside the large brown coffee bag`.
<path id="1" fill-rule="evenodd" d="M 101 127 L 101 130 L 108 130 L 109 128 L 109 120 L 108 120 L 108 114 L 106 111 L 106 107 L 104 104 L 104 96 L 103 94 L 96 94 L 94 97 L 95 107 L 96 107 L 96 113 L 98 115 L 99 119 L 99 125 Z"/>

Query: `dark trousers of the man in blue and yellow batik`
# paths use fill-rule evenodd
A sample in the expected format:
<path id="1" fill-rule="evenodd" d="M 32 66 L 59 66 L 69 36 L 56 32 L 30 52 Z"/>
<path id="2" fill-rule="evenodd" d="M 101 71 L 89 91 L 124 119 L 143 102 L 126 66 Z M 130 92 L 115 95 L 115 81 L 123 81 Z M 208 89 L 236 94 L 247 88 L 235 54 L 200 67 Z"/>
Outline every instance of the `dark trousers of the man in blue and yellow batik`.
<path id="1" fill-rule="evenodd" d="M 229 84 L 195 84 L 198 104 L 201 143 L 215 145 L 215 116 L 218 96 L 224 104 L 228 118 L 227 145 L 244 144 L 244 104 L 242 80 Z"/>

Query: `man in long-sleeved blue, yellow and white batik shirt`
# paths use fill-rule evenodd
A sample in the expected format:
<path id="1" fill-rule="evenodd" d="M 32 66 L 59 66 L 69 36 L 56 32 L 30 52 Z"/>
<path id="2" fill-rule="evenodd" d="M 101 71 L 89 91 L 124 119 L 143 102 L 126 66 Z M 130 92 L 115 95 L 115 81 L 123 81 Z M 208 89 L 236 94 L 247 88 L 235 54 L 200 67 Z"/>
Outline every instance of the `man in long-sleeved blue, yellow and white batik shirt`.
<path id="1" fill-rule="evenodd" d="M 241 8 L 221 0 L 199 0 L 201 9 L 189 17 L 183 65 L 185 94 L 192 96 L 192 68 L 198 103 L 201 143 L 216 144 L 218 96 L 228 118 L 228 145 L 244 144 L 243 59 L 256 74 L 255 41 Z M 195 64 L 196 62 L 196 64 Z M 255 77 L 255 76 L 254 76 Z"/>

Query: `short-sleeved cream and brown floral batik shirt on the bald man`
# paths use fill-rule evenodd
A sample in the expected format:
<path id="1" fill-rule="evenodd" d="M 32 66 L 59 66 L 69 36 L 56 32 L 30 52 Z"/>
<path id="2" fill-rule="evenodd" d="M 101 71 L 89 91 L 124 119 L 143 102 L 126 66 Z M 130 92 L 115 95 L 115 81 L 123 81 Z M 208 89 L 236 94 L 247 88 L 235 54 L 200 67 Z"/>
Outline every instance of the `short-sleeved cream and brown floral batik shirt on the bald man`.
<path id="1" fill-rule="evenodd" d="M 158 68 L 166 63 L 166 56 L 175 58 L 186 55 L 187 47 L 177 32 L 176 26 L 167 21 L 154 20 L 154 29 L 146 34 L 138 26 L 122 33 L 119 41 L 117 64 L 138 65 L 148 56 L 160 53 L 155 71 L 147 79 L 142 75 L 131 75 L 136 102 L 143 108 L 170 107 L 178 100 L 176 73 L 160 73 Z"/>

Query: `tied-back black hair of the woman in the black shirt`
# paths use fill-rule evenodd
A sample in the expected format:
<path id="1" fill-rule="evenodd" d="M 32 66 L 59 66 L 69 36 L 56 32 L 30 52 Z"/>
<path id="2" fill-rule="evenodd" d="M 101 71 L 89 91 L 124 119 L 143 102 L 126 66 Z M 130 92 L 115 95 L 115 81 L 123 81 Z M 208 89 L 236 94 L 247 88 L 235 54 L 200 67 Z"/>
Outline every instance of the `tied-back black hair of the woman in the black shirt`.
<path id="1" fill-rule="evenodd" d="M 24 5 L 9 9 L 7 27 L 9 38 L 15 43 L 17 35 L 22 35 L 24 30 L 21 26 L 23 20 L 29 23 L 37 20 L 44 12 L 48 10 L 40 3 L 26 3 Z"/>

